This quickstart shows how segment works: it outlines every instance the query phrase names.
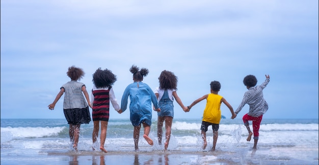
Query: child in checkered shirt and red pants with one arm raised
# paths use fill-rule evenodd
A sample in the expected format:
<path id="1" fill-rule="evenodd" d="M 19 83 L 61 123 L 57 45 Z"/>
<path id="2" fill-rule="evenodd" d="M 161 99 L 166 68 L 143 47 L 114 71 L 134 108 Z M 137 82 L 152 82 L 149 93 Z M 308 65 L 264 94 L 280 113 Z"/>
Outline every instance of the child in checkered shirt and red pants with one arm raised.
<path id="1" fill-rule="evenodd" d="M 263 98 L 262 89 L 267 86 L 269 83 L 270 77 L 269 75 L 265 75 L 266 80 L 261 84 L 257 85 L 257 79 L 253 75 L 248 75 L 244 78 L 244 85 L 247 87 L 248 91 L 245 92 L 243 101 L 240 106 L 238 106 L 235 114 L 237 115 L 242 108 L 248 104 L 249 112 L 243 116 L 244 124 L 248 130 L 248 138 L 247 141 L 251 140 L 251 136 L 253 133 L 249 127 L 249 120 L 253 121 L 253 132 L 254 132 L 254 146 L 253 149 L 257 149 L 257 142 L 259 136 L 259 126 L 262 120 L 262 115 L 267 112 L 268 104 Z"/>

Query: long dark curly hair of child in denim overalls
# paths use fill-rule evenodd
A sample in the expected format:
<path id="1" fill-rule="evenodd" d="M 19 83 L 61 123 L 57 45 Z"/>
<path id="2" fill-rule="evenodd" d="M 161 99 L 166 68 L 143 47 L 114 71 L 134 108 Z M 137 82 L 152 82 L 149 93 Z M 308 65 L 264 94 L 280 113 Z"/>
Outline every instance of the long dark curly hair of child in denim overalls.
<path id="1" fill-rule="evenodd" d="M 177 89 L 177 77 L 173 72 L 162 71 L 161 75 L 158 77 L 159 89 Z"/>

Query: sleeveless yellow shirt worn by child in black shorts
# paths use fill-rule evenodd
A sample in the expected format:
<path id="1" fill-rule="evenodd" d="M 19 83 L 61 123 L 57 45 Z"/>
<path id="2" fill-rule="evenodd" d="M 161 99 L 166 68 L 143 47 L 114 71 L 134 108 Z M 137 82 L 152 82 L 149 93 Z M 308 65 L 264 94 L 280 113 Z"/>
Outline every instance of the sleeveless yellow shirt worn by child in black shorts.
<path id="1" fill-rule="evenodd" d="M 207 96 L 207 103 L 203 114 L 203 121 L 219 124 L 222 118 L 221 100 L 223 96 L 209 93 Z"/>

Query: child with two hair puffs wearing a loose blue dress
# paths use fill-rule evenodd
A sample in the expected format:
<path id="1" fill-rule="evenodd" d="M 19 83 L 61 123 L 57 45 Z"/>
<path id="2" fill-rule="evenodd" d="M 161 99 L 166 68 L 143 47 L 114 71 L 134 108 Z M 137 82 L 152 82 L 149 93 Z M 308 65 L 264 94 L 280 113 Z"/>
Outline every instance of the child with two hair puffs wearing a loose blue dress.
<path id="1" fill-rule="evenodd" d="M 145 83 L 143 83 L 143 77 L 147 76 L 148 69 L 142 68 L 139 70 L 138 67 L 132 65 L 129 71 L 133 74 L 134 83 L 129 84 L 123 93 L 121 110 L 119 113 L 122 113 L 126 110 L 127 98 L 129 96 L 130 104 L 130 121 L 134 126 L 134 144 L 135 150 L 139 150 L 139 138 L 140 138 L 140 129 L 141 123 L 144 127 L 144 139 L 149 145 L 153 145 L 152 139 L 148 137 L 152 124 L 152 103 L 155 107 L 155 111 L 160 111 L 158 108 L 158 103 L 156 96 L 152 89 Z"/>

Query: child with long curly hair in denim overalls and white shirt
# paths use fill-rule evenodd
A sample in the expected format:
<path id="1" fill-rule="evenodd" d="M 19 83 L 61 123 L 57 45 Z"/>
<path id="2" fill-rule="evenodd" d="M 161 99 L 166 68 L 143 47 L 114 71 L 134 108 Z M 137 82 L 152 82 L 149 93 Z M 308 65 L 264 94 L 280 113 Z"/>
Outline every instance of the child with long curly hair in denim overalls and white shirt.
<path id="1" fill-rule="evenodd" d="M 164 144 L 164 150 L 167 150 L 171 138 L 171 127 L 174 117 L 174 98 L 184 112 L 187 112 L 188 109 L 187 107 L 184 107 L 177 95 L 177 77 L 174 75 L 174 73 L 164 70 L 162 71 L 161 75 L 159 75 L 158 80 L 159 87 L 155 88 L 154 92 L 158 100 L 158 106 L 161 109 L 160 112 L 157 112 L 157 139 L 158 144 L 162 145 L 162 127 L 165 121 L 166 142 Z"/>

